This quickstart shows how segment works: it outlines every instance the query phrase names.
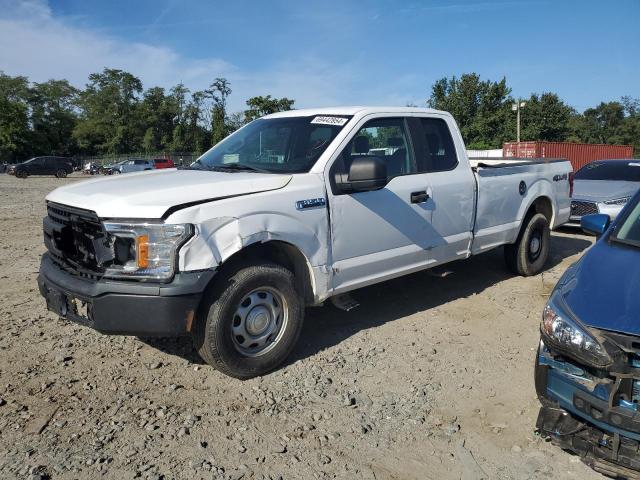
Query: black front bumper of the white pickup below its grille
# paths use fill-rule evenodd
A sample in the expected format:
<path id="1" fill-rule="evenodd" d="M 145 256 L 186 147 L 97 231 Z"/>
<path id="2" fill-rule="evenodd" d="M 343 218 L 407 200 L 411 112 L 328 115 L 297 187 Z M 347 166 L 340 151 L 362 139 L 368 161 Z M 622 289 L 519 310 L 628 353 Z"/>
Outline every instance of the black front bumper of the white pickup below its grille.
<path id="1" fill-rule="evenodd" d="M 45 253 L 38 287 L 47 309 L 107 334 L 188 334 L 215 272 L 182 272 L 170 283 L 86 279 L 60 268 Z"/>

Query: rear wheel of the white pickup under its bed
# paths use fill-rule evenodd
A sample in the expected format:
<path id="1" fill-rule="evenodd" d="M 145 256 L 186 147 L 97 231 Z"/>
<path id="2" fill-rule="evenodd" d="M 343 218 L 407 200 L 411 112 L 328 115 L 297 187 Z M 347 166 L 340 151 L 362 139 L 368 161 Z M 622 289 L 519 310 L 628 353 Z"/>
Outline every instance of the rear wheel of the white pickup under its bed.
<path id="1" fill-rule="evenodd" d="M 527 216 L 516 243 L 504 247 L 507 267 L 523 277 L 537 275 L 547 263 L 550 243 L 551 229 L 547 217 L 541 213 Z"/>

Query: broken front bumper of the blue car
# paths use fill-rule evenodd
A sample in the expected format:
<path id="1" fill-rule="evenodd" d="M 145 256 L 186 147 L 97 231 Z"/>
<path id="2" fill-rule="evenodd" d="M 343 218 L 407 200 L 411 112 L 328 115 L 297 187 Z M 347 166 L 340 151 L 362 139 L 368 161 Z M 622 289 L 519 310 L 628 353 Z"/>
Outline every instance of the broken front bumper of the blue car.
<path id="1" fill-rule="evenodd" d="M 600 473 L 640 480 L 640 371 L 634 365 L 593 370 L 541 341 L 535 384 L 542 403 L 536 428 L 543 436 Z"/>

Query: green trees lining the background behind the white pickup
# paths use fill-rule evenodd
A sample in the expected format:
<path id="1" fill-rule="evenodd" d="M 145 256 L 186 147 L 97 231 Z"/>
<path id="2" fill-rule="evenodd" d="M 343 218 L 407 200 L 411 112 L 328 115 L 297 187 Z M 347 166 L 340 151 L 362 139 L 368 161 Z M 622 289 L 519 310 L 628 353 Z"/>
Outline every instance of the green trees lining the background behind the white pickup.
<path id="1" fill-rule="evenodd" d="M 105 68 L 79 90 L 66 80 L 30 83 L 0 71 L 0 161 L 49 154 L 201 153 L 245 123 L 295 103 L 256 96 L 243 112 L 229 113 L 231 93 L 229 81 L 220 77 L 201 91 L 182 83 L 168 91 L 145 90 L 131 73 Z M 602 102 L 582 114 L 550 92 L 519 100 L 527 102 L 521 110 L 523 140 L 633 144 L 640 156 L 639 99 Z M 438 80 L 427 103 L 453 114 L 469 148 L 498 148 L 515 140 L 515 101 L 506 79 L 469 73 Z"/>

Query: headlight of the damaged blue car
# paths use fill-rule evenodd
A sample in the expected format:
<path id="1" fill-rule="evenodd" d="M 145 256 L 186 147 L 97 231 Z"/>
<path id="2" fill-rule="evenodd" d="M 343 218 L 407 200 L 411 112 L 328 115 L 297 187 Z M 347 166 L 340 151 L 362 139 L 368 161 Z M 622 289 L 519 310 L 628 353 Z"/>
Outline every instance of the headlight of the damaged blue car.
<path id="1" fill-rule="evenodd" d="M 605 367 L 613 361 L 600 342 L 569 311 L 560 289 L 554 291 L 544 307 L 540 331 L 545 344 L 588 365 Z"/>

